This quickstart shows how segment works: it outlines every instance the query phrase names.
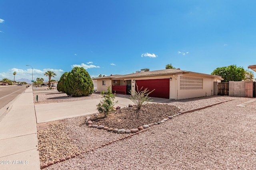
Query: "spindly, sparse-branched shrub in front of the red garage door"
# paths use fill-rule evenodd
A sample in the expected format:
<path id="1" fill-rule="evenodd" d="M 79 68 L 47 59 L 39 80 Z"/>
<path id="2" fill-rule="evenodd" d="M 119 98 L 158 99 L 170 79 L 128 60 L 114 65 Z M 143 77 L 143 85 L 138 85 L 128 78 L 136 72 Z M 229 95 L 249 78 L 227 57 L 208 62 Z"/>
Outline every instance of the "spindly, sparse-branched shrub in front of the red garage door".
<path id="1" fill-rule="evenodd" d="M 136 115 L 137 115 L 137 119 L 139 118 L 139 112 L 140 112 L 140 108 L 142 107 L 143 104 L 145 104 L 145 102 L 151 102 L 153 100 L 149 100 L 150 97 L 148 97 L 148 95 L 150 93 L 152 93 L 154 90 L 152 90 L 151 92 L 148 92 L 148 88 L 145 88 L 144 90 L 142 90 L 143 86 L 140 88 L 140 90 L 138 90 L 138 86 L 137 86 L 137 90 L 130 90 L 130 94 L 132 94 L 130 96 L 130 100 L 132 100 L 132 102 L 135 104 L 136 106 Z"/>

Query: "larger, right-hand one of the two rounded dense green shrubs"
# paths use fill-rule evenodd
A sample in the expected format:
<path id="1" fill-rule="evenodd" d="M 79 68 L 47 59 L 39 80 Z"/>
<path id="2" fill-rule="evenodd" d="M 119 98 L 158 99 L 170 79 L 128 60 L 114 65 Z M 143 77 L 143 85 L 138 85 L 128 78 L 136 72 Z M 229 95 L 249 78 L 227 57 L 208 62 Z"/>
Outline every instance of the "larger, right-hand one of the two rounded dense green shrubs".
<path id="1" fill-rule="evenodd" d="M 74 67 L 65 81 L 65 92 L 68 96 L 87 96 L 93 92 L 93 83 L 90 75 L 83 67 Z"/>

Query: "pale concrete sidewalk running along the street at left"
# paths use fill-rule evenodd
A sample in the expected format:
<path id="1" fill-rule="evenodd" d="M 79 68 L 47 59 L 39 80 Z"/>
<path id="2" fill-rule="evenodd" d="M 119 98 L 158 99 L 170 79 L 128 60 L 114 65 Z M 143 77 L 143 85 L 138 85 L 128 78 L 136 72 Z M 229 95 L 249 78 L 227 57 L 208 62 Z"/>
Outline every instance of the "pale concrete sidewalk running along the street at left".
<path id="1" fill-rule="evenodd" d="M 0 122 L 0 169 L 40 170 L 31 87 L 13 102 Z"/>

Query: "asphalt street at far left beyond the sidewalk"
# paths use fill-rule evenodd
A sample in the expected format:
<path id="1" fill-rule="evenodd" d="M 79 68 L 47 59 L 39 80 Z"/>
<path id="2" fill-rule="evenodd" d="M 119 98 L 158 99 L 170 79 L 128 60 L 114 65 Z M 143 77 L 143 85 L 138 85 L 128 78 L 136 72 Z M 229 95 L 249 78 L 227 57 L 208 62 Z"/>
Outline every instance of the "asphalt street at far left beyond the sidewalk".
<path id="1" fill-rule="evenodd" d="M 16 96 L 26 90 L 26 85 L 22 86 L 0 86 L 0 109 L 9 102 L 11 102 Z"/>

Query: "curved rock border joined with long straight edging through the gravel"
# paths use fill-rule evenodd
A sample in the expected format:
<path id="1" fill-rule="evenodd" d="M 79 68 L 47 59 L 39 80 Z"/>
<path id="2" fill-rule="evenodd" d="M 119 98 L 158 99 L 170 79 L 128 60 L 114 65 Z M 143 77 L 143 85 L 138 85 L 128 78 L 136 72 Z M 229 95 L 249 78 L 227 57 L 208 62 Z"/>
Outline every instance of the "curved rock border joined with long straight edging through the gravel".
<path id="1" fill-rule="evenodd" d="M 232 99 L 232 100 L 236 100 L 236 99 Z M 226 100 L 224 102 L 229 102 L 229 101 L 232 101 L 232 100 Z M 89 122 L 90 121 L 90 116 L 86 117 L 86 123 L 88 124 L 89 127 L 92 127 L 92 128 L 97 128 L 97 129 L 104 129 L 104 130 L 107 130 L 107 131 L 112 131 L 112 132 L 115 132 L 115 133 L 120 133 L 120 134 L 123 134 L 123 133 L 130 133 L 130 135 L 126 136 L 126 137 L 120 137 L 118 139 L 115 139 L 113 141 L 110 141 L 110 142 L 107 142 L 107 143 L 102 143 L 101 145 L 99 145 L 98 147 L 94 147 L 94 148 L 91 148 L 91 149 L 86 149 L 84 151 L 81 151 L 80 152 L 76 152 L 75 154 L 72 154 L 72 155 L 68 155 L 66 157 L 62 157 L 60 159 L 57 159 L 55 160 L 54 162 L 51 161 L 51 162 L 48 162 L 48 163 L 43 163 L 40 168 L 41 169 L 44 169 L 48 166 L 51 166 L 53 164 L 56 164 L 58 162 L 62 162 L 64 160 L 68 160 L 70 158 L 75 158 L 76 156 L 80 156 L 80 158 L 83 158 L 83 156 L 81 154 L 83 153 L 86 153 L 86 152 L 90 152 L 90 151 L 94 151 L 96 149 L 99 149 L 101 147 L 105 147 L 107 145 L 110 145 L 112 143 L 115 143 L 117 141 L 121 141 L 121 140 L 124 140 L 124 139 L 127 139 L 129 137 L 132 137 L 133 135 L 137 135 L 139 133 L 142 133 L 144 131 L 147 131 L 148 129 L 150 129 L 150 126 L 153 126 L 153 125 L 159 125 L 160 123 L 164 123 L 165 121 L 168 121 L 169 119 L 173 119 L 174 117 L 177 117 L 178 115 L 182 115 L 184 113 L 190 113 L 190 112 L 194 112 L 194 111 L 198 111 L 198 110 L 202 110 L 202 109 L 205 109 L 207 107 L 212 107 L 212 106 L 215 106 L 215 105 L 218 105 L 218 104 L 222 104 L 224 102 L 219 102 L 219 103 L 216 103 L 216 104 L 210 104 L 208 106 L 204 106 L 204 107 L 199 107 L 199 108 L 196 108 L 196 109 L 191 109 L 191 110 L 187 110 L 187 111 L 183 111 L 180 110 L 180 112 L 178 114 L 175 114 L 175 115 L 172 115 L 172 116 L 168 116 L 168 119 L 165 118 L 163 119 L 162 121 L 158 121 L 158 122 L 155 122 L 155 123 L 151 123 L 151 124 L 148 124 L 148 125 L 143 125 L 143 126 L 140 126 L 138 128 L 134 128 L 134 129 L 113 129 L 113 128 L 108 128 L 108 127 L 104 127 L 103 125 L 95 125 L 93 124 L 93 122 Z M 88 123 L 89 122 L 89 123 Z"/>

